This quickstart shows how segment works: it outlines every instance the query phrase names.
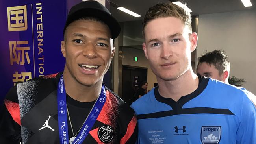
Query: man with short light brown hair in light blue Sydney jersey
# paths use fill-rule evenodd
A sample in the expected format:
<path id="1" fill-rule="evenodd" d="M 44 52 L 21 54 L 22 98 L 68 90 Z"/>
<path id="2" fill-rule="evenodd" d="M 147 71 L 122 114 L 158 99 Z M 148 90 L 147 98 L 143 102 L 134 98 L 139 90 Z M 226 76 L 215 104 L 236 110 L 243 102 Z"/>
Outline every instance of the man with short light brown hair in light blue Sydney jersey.
<path id="1" fill-rule="evenodd" d="M 172 3 L 150 7 L 143 36 L 158 86 L 131 105 L 139 125 L 137 143 L 256 143 L 256 108 L 247 91 L 193 73 L 197 34 L 186 9 Z"/>

